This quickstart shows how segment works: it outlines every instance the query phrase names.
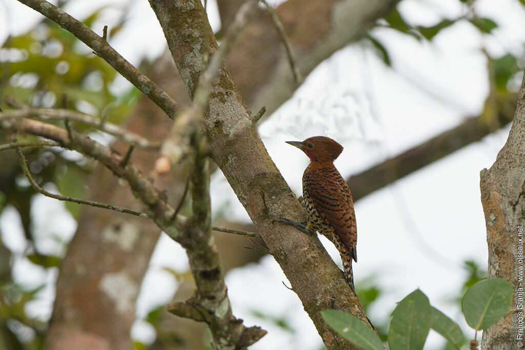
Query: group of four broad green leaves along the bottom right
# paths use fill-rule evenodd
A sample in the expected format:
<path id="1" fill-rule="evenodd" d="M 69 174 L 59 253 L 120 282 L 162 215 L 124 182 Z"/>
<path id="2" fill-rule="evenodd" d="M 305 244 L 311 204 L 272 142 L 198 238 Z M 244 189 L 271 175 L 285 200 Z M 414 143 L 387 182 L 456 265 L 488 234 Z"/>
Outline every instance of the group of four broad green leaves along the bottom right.
<path id="1" fill-rule="evenodd" d="M 512 286 L 505 279 L 475 283 L 461 301 L 467 324 L 476 331 L 486 330 L 508 312 L 512 296 Z M 321 315 L 330 327 L 351 343 L 365 350 L 384 348 L 379 336 L 359 318 L 339 310 L 324 310 Z M 430 305 L 428 297 L 417 289 L 397 304 L 388 329 L 388 347 L 391 350 L 423 349 L 430 329 L 456 349 L 464 342 L 459 325 Z"/>

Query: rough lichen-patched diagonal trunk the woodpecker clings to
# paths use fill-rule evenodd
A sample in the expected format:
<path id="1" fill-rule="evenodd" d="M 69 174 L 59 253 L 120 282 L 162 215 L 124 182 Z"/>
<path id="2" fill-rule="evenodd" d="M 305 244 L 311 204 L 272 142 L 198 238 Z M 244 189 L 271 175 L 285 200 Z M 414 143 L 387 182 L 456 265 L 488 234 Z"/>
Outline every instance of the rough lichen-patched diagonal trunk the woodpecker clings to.
<path id="1" fill-rule="evenodd" d="M 163 27 L 188 93 L 193 95 L 204 68 L 200 58 L 206 46 L 204 31 L 209 30 L 201 13 L 202 4 L 200 1 L 181 4 L 168 0 L 150 3 Z M 209 52 L 213 54 L 216 45 L 211 36 Z M 361 304 L 317 236 L 272 223 L 279 216 L 304 220 L 306 213 L 256 135 L 249 112 L 224 66 L 214 80 L 205 110 L 204 129 L 212 158 L 257 224 L 323 342 L 329 349 L 356 348 L 328 327 L 319 312 L 325 308 L 337 308 L 366 322 Z"/>

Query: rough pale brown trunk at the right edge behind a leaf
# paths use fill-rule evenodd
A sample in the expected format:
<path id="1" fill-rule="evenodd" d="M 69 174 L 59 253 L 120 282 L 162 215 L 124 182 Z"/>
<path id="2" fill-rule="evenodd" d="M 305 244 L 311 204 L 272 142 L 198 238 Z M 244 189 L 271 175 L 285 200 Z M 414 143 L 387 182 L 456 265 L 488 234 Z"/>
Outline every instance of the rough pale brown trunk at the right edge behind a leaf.
<path id="1" fill-rule="evenodd" d="M 521 348 L 523 345 L 519 346 L 518 342 L 522 344 L 524 338 L 523 306 L 520 306 L 523 304 L 523 232 L 520 230 L 525 227 L 525 79 L 507 142 L 492 167 L 481 171 L 480 178 L 489 278 L 503 277 L 514 287 L 514 302 L 509 312 L 483 332 L 481 347 Z"/>

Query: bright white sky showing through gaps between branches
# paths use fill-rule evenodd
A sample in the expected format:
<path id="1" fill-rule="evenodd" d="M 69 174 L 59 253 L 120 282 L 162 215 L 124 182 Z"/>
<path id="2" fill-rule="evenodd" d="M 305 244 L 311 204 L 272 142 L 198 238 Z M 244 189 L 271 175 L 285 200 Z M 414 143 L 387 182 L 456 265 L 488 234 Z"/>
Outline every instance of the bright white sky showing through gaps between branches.
<path id="1" fill-rule="evenodd" d="M 104 3 L 74 1 L 65 9 L 83 18 Z M 403 0 L 400 11 L 413 25 L 433 25 L 440 18 L 463 15 L 465 9 L 458 4 L 457 0 Z M 217 29 L 215 2 L 209 1 L 208 6 Z M 0 42 L 7 33 L 22 33 L 40 18 L 14 0 L 0 1 L 2 7 L 7 11 L 0 10 Z M 468 23 L 444 29 L 432 43 L 376 29 L 374 35 L 387 47 L 394 69 L 386 68 L 369 49 L 350 45 L 325 60 L 292 99 L 261 123 L 260 135 L 270 156 L 296 194 L 301 193 L 301 175 L 308 159 L 284 141 L 321 134 L 333 137 L 344 146 L 336 166 L 346 178 L 479 114 L 488 91 L 487 63 L 480 47 L 496 56 L 512 52 L 523 57 L 525 11 L 516 0 L 478 0 L 475 9 L 478 16 L 488 16 L 499 24 L 494 37 L 481 36 Z M 104 12 L 100 28 L 104 24 L 111 26 L 116 21 L 114 14 L 111 9 Z M 144 55 L 153 59 L 165 45 L 160 26 L 145 1 L 133 2 L 125 30 L 110 42 L 134 64 Z M 479 171 L 491 166 L 507 135 L 508 127 L 355 203 L 359 232 L 356 284 L 367 276 L 376 276 L 386 292 L 371 311 L 373 322 L 387 320 L 397 301 L 420 288 L 430 303 L 461 325 L 466 336 L 474 335 L 458 305 L 451 305 L 448 299 L 457 295 L 466 277 L 463 261 L 487 264 Z M 249 220 L 221 173 L 214 174 L 212 190 L 215 212 L 226 207 L 223 211 L 231 219 Z M 57 251 L 60 248 L 52 244 L 53 236 L 70 238 L 75 222 L 62 203 L 41 197 L 35 201 L 45 203 L 38 208 L 46 209 L 34 213 L 39 244 L 50 252 Z M 8 208 L 0 217 L 3 241 L 22 253 L 25 243 L 19 225 L 13 209 Z M 334 246 L 321 239 L 340 264 Z M 164 236 L 138 301 L 139 317 L 151 307 L 169 302 L 176 282 L 162 267 L 184 270 L 187 266 L 185 259 L 177 260 L 176 256 L 184 256 L 182 249 Z M 17 259 L 15 271 L 20 271 L 18 278 L 23 283 L 56 279 L 56 271 L 46 275 L 23 259 Z M 235 315 L 246 325 L 257 324 L 269 331 L 250 348 L 318 349 L 321 341 L 313 324 L 282 281 L 286 282 L 285 276 L 269 256 L 226 276 Z M 31 305 L 31 312 L 48 317 L 53 293 L 52 288 L 46 290 L 41 300 Z M 254 310 L 285 318 L 297 333 L 260 320 L 251 313 Z M 153 336 L 143 322 L 137 322 L 132 333 L 146 341 Z M 427 341 L 428 348 L 441 343 L 437 335 Z"/>

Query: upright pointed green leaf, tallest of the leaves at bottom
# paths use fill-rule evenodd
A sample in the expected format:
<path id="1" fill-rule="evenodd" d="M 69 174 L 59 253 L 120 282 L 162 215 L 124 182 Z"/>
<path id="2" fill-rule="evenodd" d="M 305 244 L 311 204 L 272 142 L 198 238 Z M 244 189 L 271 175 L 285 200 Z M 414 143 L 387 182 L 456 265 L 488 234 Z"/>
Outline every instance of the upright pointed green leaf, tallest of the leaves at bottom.
<path id="1" fill-rule="evenodd" d="M 388 346 L 391 350 L 423 349 L 432 325 L 432 306 L 419 289 L 400 301 L 392 313 L 388 330 Z"/>

